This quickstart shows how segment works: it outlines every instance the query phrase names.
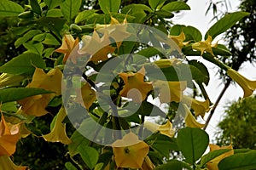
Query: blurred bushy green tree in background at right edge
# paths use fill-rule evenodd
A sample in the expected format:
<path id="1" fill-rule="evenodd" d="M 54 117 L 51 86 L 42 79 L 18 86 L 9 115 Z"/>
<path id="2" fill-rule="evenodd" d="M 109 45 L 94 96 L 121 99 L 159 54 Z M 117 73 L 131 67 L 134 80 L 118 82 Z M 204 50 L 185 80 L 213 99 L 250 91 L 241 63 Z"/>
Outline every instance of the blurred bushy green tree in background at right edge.
<path id="1" fill-rule="evenodd" d="M 234 148 L 256 149 L 256 96 L 239 99 L 225 110 L 218 123 L 217 144 L 232 144 Z"/>

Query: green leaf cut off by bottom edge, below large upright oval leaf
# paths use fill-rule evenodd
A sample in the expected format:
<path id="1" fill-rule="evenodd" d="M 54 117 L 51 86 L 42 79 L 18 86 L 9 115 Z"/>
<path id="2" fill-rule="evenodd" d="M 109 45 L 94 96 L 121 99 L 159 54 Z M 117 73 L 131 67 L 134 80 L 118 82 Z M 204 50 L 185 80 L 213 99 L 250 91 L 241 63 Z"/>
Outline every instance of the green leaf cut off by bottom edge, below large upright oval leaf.
<path id="1" fill-rule="evenodd" d="M 177 161 L 177 160 L 171 160 L 167 161 L 167 163 L 162 164 L 158 167 L 155 168 L 155 170 L 170 170 L 170 169 L 175 169 L 175 170 L 183 170 L 183 169 L 191 169 L 189 165 L 183 161 Z"/>

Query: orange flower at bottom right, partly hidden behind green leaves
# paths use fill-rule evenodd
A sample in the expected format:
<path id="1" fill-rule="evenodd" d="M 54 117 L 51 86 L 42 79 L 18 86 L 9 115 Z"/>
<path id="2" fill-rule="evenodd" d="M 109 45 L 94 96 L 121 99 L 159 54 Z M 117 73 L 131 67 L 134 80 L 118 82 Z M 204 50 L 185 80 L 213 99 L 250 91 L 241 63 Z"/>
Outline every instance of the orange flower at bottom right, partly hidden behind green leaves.
<path id="1" fill-rule="evenodd" d="M 216 144 L 209 144 L 210 146 L 210 151 L 212 150 L 224 150 L 224 149 L 231 149 L 230 151 L 227 151 L 225 152 L 224 154 L 220 155 L 220 156 L 217 156 L 215 157 L 214 159 L 212 159 L 211 161 L 209 161 L 207 163 L 207 168 L 209 170 L 218 170 L 218 162 L 223 160 L 225 157 L 228 157 L 228 156 L 232 156 L 234 155 L 234 150 L 233 150 L 233 147 L 232 145 L 228 145 L 228 146 L 223 146 L 223 147 L 219 147 L 218 145 Z"/>

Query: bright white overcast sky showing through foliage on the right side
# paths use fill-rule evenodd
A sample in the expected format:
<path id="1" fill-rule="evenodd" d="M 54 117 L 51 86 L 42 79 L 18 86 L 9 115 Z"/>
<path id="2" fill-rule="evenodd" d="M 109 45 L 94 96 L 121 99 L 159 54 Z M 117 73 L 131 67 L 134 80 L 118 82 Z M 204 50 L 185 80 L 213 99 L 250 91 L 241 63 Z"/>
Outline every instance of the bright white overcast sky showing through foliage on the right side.
<path id="1" fill-rule="evenodd" d="M 175 24 L 183 24 L 186 26 L 195 26 L 197 29 L 199 29 L 202 32 L 202 35 L 204 37 L 204 34 L 207 32 L 207 30 L 214 24 L 214 22 L 210 21 L 212 20 L 212 11 L 210 14 L 206 14 L 207 7 L 208 7 L 208 0 L 189 0 L 188 4 L 191 8 L 189 11 L 183 11 L 181 14 L 178 14 L 175 18 Z M 239 0 L 231 0 L 231 8 L 229 12 L 237 11 L 237 7 L 239 6 L 240 1 Z M 218 40 L 221 37 L 216 37 L 216 40 Z M 221 42 L 221 41 L 220 41 Z M 200 59 L 201 62 L 203 62 L 205 65 L 207 65 L 207 68 L 210 71 L 210 82 L 207 86 L 207 93 L 209 94 L 210 99 L 212 100 L 212 103 L 216 101 L 218 98 L 218 94 L 220 91 L 224 88 L 224 84 L 218 80 L 218 76 L 216 76 L 216 72 L 218 71 L 218 68 L 215 65 L 212 65 L 211 63 L 205 61 L 204 59 Z M 239 70 L 241 75 L 244 77 L 247 77 L 251 80 L 256 80 L 256 68 L 255 66 L 251 64 L 244 64 L 241 65 L 241 70 Z M 255 93 L 254 93 L 255 94 Z M 230 85 L 230 88 L 227 89 L 227 91 L 224 94 L 223 99 L 219 102 L 219 105 L 212 116 L 212 120 L 209 123 L 207 127 L 207 133 L 210 134 L 210 141 L 212 141 L 213 134 L 216 132 L 217 124 L 218 122 L 223 118 L 224 113 L 224 106 L 227 105 L 230 101 L 234 101 L 239 99 L 239 97 L 243 96 L 242 89 L 237 85 Z M 208 114 L 207 114 L 208 115 Z M 205 120 L 207 120 L 207 115 L 205 117 Z"/>

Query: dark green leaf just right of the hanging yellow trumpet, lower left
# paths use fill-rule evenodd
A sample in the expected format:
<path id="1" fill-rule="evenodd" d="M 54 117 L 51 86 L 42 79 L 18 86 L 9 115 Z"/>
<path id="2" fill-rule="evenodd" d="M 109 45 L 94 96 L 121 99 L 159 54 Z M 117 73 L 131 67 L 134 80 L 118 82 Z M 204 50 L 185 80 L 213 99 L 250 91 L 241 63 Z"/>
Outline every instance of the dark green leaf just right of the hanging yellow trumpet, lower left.
<path id="1" fill-rule="evenodd" d="M 90 141 L 79 133 L 79 131 L 75 131 L 71 136 L 72 143 L 68 144 L 67 149 L 69 150 L 70 156 L 75 156 L 79 154 L 79 145 L 88 145 Z"/>

